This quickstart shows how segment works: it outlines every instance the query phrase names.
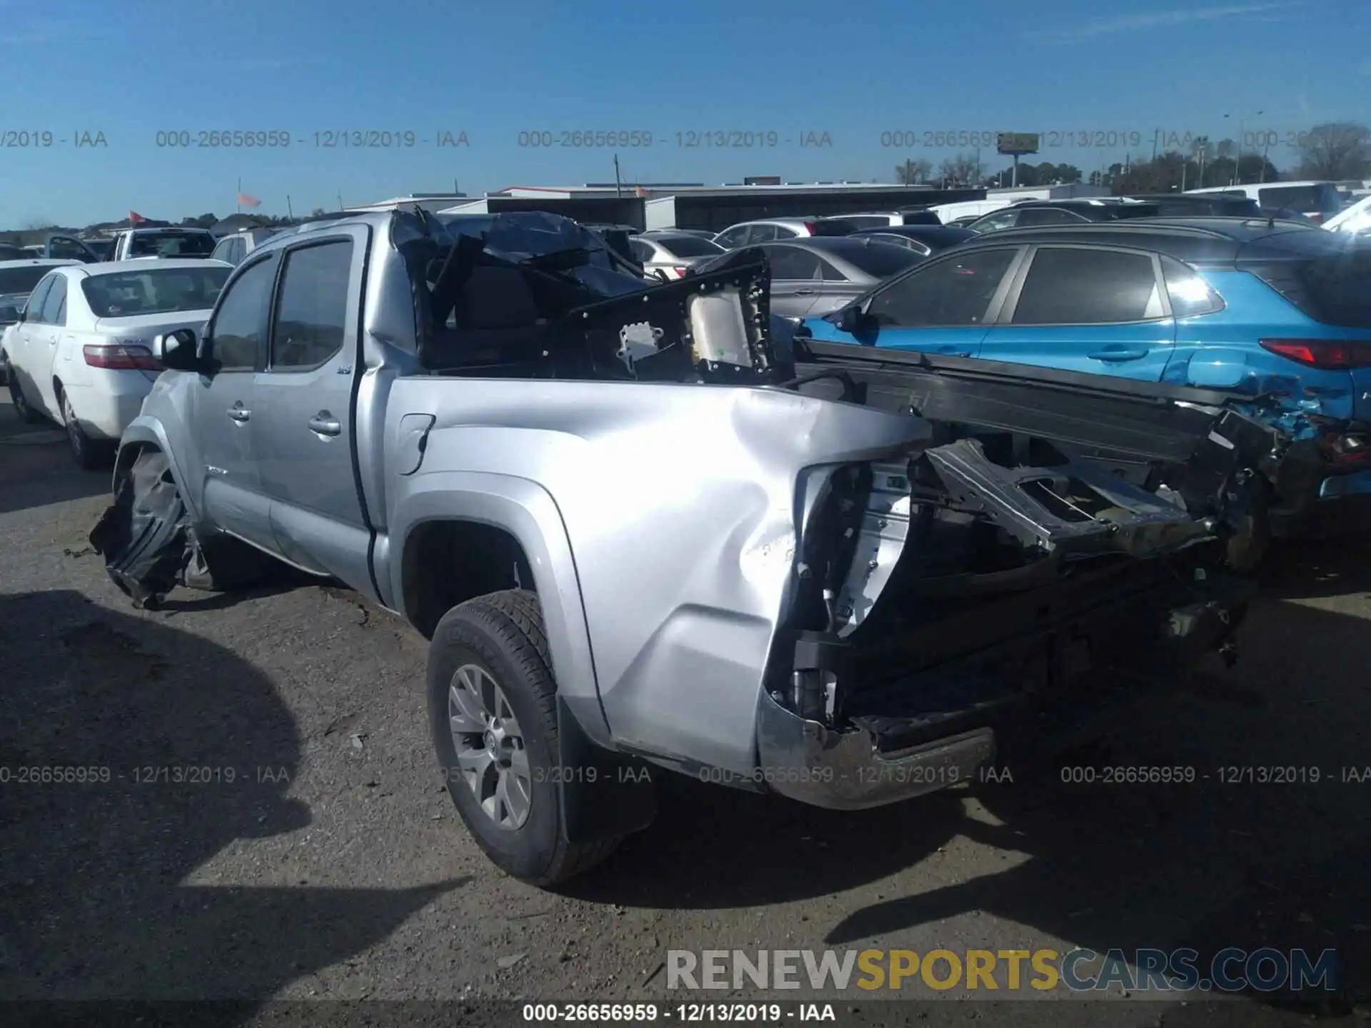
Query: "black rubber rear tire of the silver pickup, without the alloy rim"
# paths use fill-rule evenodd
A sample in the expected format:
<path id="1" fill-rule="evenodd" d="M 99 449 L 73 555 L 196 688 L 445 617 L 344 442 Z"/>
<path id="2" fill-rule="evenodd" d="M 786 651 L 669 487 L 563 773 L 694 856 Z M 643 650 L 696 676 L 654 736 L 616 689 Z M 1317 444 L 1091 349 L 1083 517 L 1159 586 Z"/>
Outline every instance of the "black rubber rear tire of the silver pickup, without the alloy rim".
<path id="1" fill-rule="evenodd" d="M 481 668 L 505 694 L 522 729 L 531 773 L 528 817 L 503 828 L 481 809 L 458 769 L 448 729 L 448 689 L 463 665 Z M 533 885 L 566 881 L 599 864 L 620 839 L 568 843 L 554 769 L 559 765 L 557 683 L 537 596 L 507 589 L 452 607 L 437 622 L 428 662 L 429 724 L 448 795 L 477 846 L 502 870 Z"/>

